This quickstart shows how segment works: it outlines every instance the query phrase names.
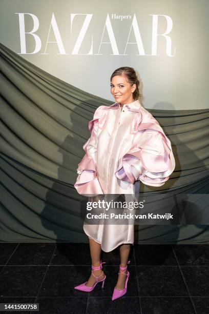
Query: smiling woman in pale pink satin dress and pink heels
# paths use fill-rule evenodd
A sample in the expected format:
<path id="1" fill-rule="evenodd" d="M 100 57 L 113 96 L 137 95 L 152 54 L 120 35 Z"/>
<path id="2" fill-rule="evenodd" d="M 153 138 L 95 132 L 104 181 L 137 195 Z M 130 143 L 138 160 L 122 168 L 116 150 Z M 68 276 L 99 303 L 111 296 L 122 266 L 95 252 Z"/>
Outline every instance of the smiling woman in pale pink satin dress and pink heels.
<path id="1" fill-rule="evenodd" d="M 133 68 L 121 67 L 111 76 L 111 94 L 116 103 L 100 106 L 89 122 L 91 136 L 83 145 L 86 154 L 78 164 L 77 192 L 95 196 L 134 195 L 138 200 L 140 182 L 161 186 L 175 168 L 170 140 L 157 120 L 139 102 L 139 79 Z M 89 237 L 92 273 L 89 280 L 75 287 L 92 291 L 105 283 L 100 261 L 106 252 L 119 247 L 120 268 L 112 300 L 127 292 L 127 264 L 130 244 L 134 243 L 134 224 L 83 224 Z"/>

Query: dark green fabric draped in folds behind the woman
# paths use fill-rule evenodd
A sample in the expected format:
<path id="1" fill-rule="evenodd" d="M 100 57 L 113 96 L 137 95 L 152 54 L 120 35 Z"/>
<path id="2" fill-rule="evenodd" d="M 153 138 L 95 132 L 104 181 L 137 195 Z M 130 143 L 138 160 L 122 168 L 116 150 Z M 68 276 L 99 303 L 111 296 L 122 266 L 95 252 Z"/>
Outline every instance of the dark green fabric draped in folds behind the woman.
<path id="1" fill-rule="evenodd" d="M 1 242 L 86 242 L 76 168 L 88 121 L 113 102 L 71 86 L 1 49 Z M 65 70 L 65 69 L 64 69 Z M 194 91 L 191 91 L 194 92 Z M 197 104 L 198 107 L 198 104 Z M 169 137 L 175 171 L 141 192 L 209 190 L 209 110 L 149 110 Z M 135 243 L 206 243 L 208 225 L 136 225 Z"/>

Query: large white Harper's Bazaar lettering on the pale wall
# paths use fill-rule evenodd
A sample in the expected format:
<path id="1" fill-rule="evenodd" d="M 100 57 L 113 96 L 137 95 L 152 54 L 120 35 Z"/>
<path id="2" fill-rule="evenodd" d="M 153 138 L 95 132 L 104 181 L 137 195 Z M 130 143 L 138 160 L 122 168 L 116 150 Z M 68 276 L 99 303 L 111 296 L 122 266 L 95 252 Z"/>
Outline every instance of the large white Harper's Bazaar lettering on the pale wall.
<path id="1" fill-rule="evenodd" d="M 58 24 L 56 22 L 56 18 L 55 18 L 54 13 L 52 13 L 47 38 L 40 38 L 40 36 L 36 33 L 36 32 L 38 32 L 38 28 L 39 28 L 39 20 L 35 14 L 32 14 L 32 13 L 15 13 L 15 14 L 18 14 L 18 17 L 19 17 L 19 34 L 20 34 L 20 50 L 21 50 L 21 52 L 19 54 L 38 53 L 41 50 L 42 43 L 44 43 L 45 47 L 43 49 L 43 52 L 40 52 L 40 54 L 49 54 L 50 45 L 52 45 L 52 43 L 53 43 L 53 45 L 56 44 L 58 47 L 59 53 L 57 53 L 57 54 L 102 55 L 102 53 L 100 53 L 100 50 L 102 50 L 102 47 L 104 47 L 103 45 L 110 45 L 111 49 L 113 51 L 113 53 L 110 55 L 128 55 L 126 53 L 127 46 L 134 44 L 134 45 L 136 45 L 136 47 L 138 49 L 138 54 L 136 54 L 136 55 L 159 55 L 159 54 L 157 54 L 157 44 L 158 44 L 158 38 L 160 36 L 164 37 L 166 54 L 168 56 L 173 57 L 175 55 L 175 52 L 176 52 L 176 47 L 175 47 L 175 48 L 173 48 L 174 53 L 172 54 L 172 38 L 169 34 L 173 28 L 173 21 L 169 15 L 149 14 L 150 23 L 152 25 L 152 35 L 150 37 L 151 54 L 148 54 L 148 53 L 145 53 L 145 51 L 144 51 L 142 37 L 140 34 L 136 14 L 134 14 L 132 21 L 127 21 L 127 23 L 130 22 L 129 26 L 127 26 L 127 24 L 126 24 L 126 29 L 127 29 L 127 27 L 129 27 L 128 37 L 124 38 L 124 36 L 122 35 L 122 32 L 120 34 L 120 36 L 123 36 L 122 39 L 124 40 L 123 53 L 120 53 L 118 50 L 117 38 L 115 37 L 115 34 L 114 34 L 114 28 L 113 28 L 113 25 L 111 23 L 111 18 L 112 19 L 118 19 L 119 20 L 118 23 L 121 23 L 121 27 L 122 27 L 122 23 L 126 23 L 126 21 L 125 21 L 126 19 L 131 19 L 131 15 L 117 15 L 116 13 L 112 13 L 111 18 L 110 18 L 109 14 L 107 14 L 106 21 L 104 20 L 104 23 L 103 23 L 104 26 L 103 26 L 103 31 L 101 33 L 101 40 L 99 43 L 98 42 L 95 43 L 93 34 L 91 34 L 89 31 L 91 23 L 94 23 L 93 14 L 71 13 L 70 14 L 70 22 L 69 22 L 69 24 L 70 24 L 69 25 L 69 29 L 70 29 L 69 33 L 73 35 L 73 32 L 76 32 L 76 34 L 78 33 L 78 35 L 77 35 L 77 38 L 75 39 L 75 41 L 73 43 L 71 53 L 69 53 L 69 52 L 66 52 L 63 38 L 62 38 L 62 35 L 59 31 L 59 27 L 58 27 Z M 33 23 L 33 28 L 27 32 L 25 29 L 25 16 L 26 15 L 30 16 L 30 18 L 32 19 L 32 23 Z M 78 15 L 83 15 L 82 23 L 80 24 L 79 30 L 75 29 L 75 27 L 73 28 L 73 22 L 76 18 L 78 18 Z M 162 33 L 158 32 L 159 24 L 160 24 L 159 19 L 158 19 L 159 16 L 161 16 L 161 19 L 163 18 L 165 20 L 165 21 L 163 21 L 163 22 L 165 22 L 163 24 L 166 25 L 165 29 Z M 101 21 L 101 23 L 102 23 L 102 21 Z M 98 29 L 98 27 L 97 27 L 97 29 Z M 109 42 L 107 42 L 107 41 L 103 42 L 103 36 L 105 34 L 105 30 L 108 33 L 109 40 L 110 40 Z M 134 43 L 129 41 L 129 38 L 131 36 L 132 31 L 134 33 L 135 40 L 136 40 Z M 49 35 L 51 34 L 51 32 L 53 32 L 56 41 L 53 41 L 53 42 L 49 41 Z M 70 34 L 69 34 L 69 40 L 71 39 Z M 32 39 L 34 41 L 35 49 L 32 52 L 28 52 L 28 49 L 26 48 L 26 38 L 27 38 L 26 36 L 32 36 Z M 82 43 L 83 43 L 83 40 L 86 40 L 86 36 L 91 38 L 88 47 L 85 46 L 87 53 L 79 53 L 80 49 L 81 48 L 83 49 Z M 120 37 L 120 40 L 121 40 L 121 37 Z M 70 43 L 71 43 L 71 41 L 70 41 Z M 85 41 L 85 43 L 86 43 L 86 41 Z M 101 45 L 102 45 L 102 47 L 101 47 Z M 93 53 L 93 51 L 96 50 L 95 47 L 98 47 L 97 48 L 98 53 Z M 163 45 L 163 47 L 164 47 L 164 45 Z M 161 49 L 161 51 L 162 51 L 162 49 Z"/>

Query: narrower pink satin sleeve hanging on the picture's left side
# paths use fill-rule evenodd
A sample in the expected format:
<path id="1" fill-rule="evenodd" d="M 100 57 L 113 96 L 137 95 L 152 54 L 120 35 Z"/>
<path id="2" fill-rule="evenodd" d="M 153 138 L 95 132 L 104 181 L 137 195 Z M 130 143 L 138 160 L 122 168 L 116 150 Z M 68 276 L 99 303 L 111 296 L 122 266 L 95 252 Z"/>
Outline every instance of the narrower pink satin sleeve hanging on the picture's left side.
<path id="1" fill-rule="evenodd" d="M 83 150 L 86 154 L 78 164 L 78 176 L 74 187 L 81 195 L 95 196 L 103 194 L 96 175 L 97 131 L 98 122 L 101 116 L 102 112 L 100 107 L 98 107 L 94 113 L 93 120 L 89 122 L 91 136 L 83 145 Z"/>

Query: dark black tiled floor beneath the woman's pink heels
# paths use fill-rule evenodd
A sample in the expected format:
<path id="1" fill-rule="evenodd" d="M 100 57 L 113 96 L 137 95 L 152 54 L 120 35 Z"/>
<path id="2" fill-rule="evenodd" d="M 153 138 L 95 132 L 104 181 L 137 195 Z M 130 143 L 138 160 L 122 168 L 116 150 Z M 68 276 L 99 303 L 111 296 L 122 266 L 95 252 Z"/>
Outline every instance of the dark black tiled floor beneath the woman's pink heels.
<path id="1" fill-rule="evenodd" d="M 0 243 L 0 303 L 39 303 L 32 314 L 209 313 L 209 245 L 134 245 L 130 259 L 128 291 L 112 301 L 118 248 L 102 252 L 104 288 L 86 293 L 74 286 L 90 276 L 88 244 Z"/>

